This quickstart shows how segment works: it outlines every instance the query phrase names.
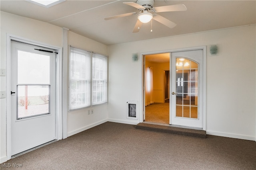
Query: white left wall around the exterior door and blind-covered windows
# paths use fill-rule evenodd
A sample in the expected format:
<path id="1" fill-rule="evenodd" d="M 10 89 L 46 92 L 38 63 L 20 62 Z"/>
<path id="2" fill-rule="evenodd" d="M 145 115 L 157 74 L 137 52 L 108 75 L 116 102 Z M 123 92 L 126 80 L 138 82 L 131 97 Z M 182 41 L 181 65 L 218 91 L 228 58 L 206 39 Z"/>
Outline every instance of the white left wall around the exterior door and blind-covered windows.
<path id="1" fill-rule="evenodd" d="M 49 23 L 38 20 L 32 20 L 9 14 L 0 13 L 1 24 L 1 52 L 0 52 L 0 68 L 6 69 L 6 34 L 22 37 L 32 41 L 44 44 L 62 47 L 62 28 Z M 94 51 L 103 55 L 108 54 L 106 45 L 82 37 L 71 31 L 68 31 L 68 44 L 89 51 Z M 64 57 L 65 58 L 65 57 Z M 67 57 L 66 57 L 67 58 Z M 9 75 L 7 75 L 9 76 Z M 67 83 L 67 82 L 65 82 Z M 0 90 L 6 91 L 6 76 L 0 76 Z M 63 92 L 64 95 L 68 91 Z M 68 104 L 64 104 L 67 106 Z M 88 115 L 87 109 L 81 109 L 68 113 L 67 129 L 68 136 L 78 133 L 84 129 L 88 129 L 98 123 L 105 122 L 107 119 L 107 105 L 95 106 L 93 115 Z M 6 98 L 0 99 L 0 163 L 7 160 L 6 154 Z"/>

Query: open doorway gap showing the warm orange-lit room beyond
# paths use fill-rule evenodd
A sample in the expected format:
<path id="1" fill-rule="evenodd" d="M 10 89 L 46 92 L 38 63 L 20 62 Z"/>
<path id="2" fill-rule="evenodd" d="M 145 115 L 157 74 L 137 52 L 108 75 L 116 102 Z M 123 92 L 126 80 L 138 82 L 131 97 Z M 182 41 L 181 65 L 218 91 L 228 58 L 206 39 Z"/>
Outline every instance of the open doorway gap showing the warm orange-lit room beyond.
<path id="1" fill-rule="evenodd" d="M 168 125 L 170 120 L 170 53 L 145 55 L 144 59 L 145 121 Z"/>

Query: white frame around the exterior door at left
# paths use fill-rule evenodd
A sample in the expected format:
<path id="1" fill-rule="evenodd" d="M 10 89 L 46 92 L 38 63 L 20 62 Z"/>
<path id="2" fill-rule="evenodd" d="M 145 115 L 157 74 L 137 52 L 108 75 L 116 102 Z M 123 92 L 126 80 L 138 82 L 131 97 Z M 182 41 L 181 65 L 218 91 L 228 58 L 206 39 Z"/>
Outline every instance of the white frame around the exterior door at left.
<path id="1" fill-rule="evenodd" d="M 7 160 L 11 159 L 11 40 L 38 45 L 58 51 L 56 54 L 56 117 L 55 117 L 55 137 L 56 140 L 62 139 L 62 47 L 57 47 L 33 41 L 16 35 L 6 35 L 6 154 Z"/>

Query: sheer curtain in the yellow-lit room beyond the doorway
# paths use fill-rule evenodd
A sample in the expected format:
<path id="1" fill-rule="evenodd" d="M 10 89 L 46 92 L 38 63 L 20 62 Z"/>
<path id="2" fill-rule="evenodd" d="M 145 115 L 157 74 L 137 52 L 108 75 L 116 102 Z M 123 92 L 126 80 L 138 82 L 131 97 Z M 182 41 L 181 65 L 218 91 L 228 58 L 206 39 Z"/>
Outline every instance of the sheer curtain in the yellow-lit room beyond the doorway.
<path id="1" fill-rule="evenodd" d="M 153 68 L 147 66 L 145 71 L 145 106 L 153 103 Z"/>

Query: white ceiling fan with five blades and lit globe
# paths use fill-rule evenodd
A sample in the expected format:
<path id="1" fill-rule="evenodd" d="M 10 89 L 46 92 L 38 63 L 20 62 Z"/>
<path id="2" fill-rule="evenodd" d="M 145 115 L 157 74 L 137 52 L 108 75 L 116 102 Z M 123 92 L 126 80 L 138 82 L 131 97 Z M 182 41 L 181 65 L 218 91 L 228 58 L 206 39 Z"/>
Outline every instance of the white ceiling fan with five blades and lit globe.
<path id="1" fill-rule="evenodd" d="M 132 31 L 133 33 L 140 31 L 140 25 L 142 25 L 142 23 L 148 23 L 152 19 L 166 25 L 169 28 L 173 28 L 176 26 L 176 23 L 174 23 L 158 14 L 154 14 L 154 13 L 186 11 L 187 10 L 187 8 L 184 4 L 154 7 L 154 0 L 137 0 L 136 3 L 135 2 L 123 2 L 123 3 L 126 5 L 130 5 L 134 8 L 137 8 L 139 10 L 139 12 L 120 14 L 120 15 L 116 15 L 116 16 L 107 17 L 104 19 L 111 20 L 111 19 L 115 19 L 115 18 L 132 16 L 132 15 L 138 14 L 138 20 L 134 26 L 133 31 Z"/>

